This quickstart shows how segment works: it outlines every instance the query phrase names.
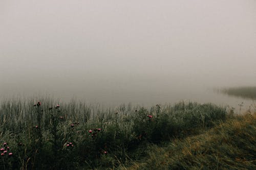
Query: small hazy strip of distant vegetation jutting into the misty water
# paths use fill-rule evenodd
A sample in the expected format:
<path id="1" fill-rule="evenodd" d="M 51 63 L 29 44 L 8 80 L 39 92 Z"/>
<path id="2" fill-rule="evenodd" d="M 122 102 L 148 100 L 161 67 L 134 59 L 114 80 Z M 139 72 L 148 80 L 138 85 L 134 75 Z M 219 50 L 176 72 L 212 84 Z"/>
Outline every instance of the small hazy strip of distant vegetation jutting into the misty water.
<path id="1" fill-rule="evenodd" d="M 218 90 L 224 94 L 240 96 L 247 99 L 256 99 L 256 87 L 229 87 Z"/>

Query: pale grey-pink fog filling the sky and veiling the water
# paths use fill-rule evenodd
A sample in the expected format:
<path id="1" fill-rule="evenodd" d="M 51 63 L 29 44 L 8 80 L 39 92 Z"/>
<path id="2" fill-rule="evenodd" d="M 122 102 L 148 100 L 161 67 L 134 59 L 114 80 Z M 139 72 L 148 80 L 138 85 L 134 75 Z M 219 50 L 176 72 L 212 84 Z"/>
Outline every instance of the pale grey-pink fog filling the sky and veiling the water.
<path id="1" fill-rule="evenodd" d="M 237 105 L 256 84 L 256 1 L 0 1 L 0 95 Z"/>

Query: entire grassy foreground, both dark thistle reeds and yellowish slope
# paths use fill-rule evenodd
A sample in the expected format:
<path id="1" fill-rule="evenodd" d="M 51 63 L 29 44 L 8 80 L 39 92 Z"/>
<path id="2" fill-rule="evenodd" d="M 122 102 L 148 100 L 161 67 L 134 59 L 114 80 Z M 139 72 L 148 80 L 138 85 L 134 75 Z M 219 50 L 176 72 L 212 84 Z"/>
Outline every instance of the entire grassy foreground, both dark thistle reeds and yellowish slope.
<path id="1" fill-rule="evenodd" d="M 6 100 L 0 169 L 220 169 L 243 161 L 255 167 L 255 114 L 232 113 L 191 102 L 102 109 Z"/>

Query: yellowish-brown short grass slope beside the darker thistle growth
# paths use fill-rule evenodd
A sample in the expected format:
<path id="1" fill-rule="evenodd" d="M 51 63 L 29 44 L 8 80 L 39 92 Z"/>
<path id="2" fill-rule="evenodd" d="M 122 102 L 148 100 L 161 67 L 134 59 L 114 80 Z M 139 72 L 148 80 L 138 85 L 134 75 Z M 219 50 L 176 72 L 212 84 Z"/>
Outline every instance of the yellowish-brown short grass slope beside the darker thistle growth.
<path id="1" fill-rule="evenodd" d="M 256 169 L 255 132 L 256 113 L 233 117 L 201 135 L 150 145 L 127 169 Z"/>

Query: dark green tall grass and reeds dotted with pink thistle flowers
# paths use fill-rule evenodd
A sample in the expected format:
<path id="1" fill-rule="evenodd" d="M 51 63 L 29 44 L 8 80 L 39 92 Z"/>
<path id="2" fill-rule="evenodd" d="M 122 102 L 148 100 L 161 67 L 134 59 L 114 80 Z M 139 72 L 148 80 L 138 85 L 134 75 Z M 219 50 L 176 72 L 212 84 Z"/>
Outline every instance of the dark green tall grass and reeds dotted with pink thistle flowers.
<path id="1" fill-rule="evenodd" d="M 227 118 L 225 108 L 212 104 L 181 102 L 148 110 L 122 105 L 103 110 L 76 101 L 39 101 L 1 104 L 1 169 L 108 169 L 131 165 L 146 155 L 149 143 L 183 139 Z"/>

